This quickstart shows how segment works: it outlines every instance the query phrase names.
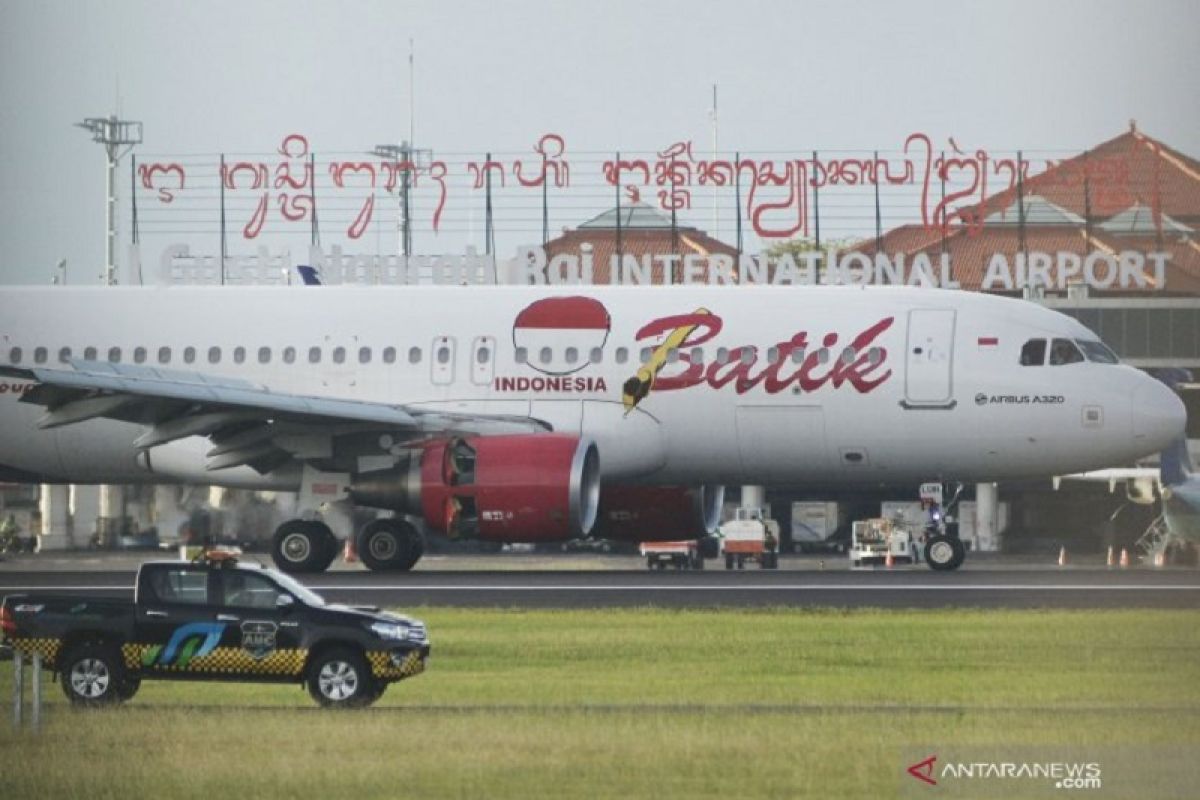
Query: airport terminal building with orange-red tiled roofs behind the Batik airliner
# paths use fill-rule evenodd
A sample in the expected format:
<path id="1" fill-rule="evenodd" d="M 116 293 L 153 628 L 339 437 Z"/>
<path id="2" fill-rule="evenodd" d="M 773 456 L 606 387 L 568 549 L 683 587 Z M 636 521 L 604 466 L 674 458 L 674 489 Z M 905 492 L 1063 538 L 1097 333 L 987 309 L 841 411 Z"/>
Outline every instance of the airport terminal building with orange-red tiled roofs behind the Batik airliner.
<path id="1" fill-rule="evenodd" d="M 974 205 L 943 205 L 940 218 L 881 230 L 845 247 L 841 263 L 874 265 L 878 255 L 886 265 L 923 259 L 941 285 L 1025 297 L 1074 317 L 1127 363 L 1200 371 L 1200 161 L 1130 124 L 1114 139 L 1045 172 L 1028 175 L 1028 164 L 1022 167 L 1003 191 Z M 668 254 L 654 264 L 650 282 L 656 284 L 683 282 L 689 254 L 740 255 L 737 247 L 642 204 L 588 219 L 548 241 L 545 251 L 547 259 L 590 259 L 596 283 L 610 283 L 614 254 Z M 875 272 L 876 282 L 886 276 L 887 270 Z M 1181 386 L 1192 440 L 1200 439 L 1198 389 L 1200 384 Z M 767 499 L 785 541 L 792 534 L 799 542 L 805 515 L 824 524 L 830 515 L 876 516 L 883 503 L 911 504 L 916 489 L 864 494 L 797 488 L 772 491 Z M 967 487 L 962 497 L 972 495 Z M 1156 516 L 1153 505 L 1127 501 L 1121 487 L 1064 485 L 1055 491 L 1050 481 L 1038 481 L 1000 487 L 1000 495 L 1004 535 L 973 542 L 982 549 L 1132 545 Z M 1096 530 L 1103 536 L 1097 539 Z"/>

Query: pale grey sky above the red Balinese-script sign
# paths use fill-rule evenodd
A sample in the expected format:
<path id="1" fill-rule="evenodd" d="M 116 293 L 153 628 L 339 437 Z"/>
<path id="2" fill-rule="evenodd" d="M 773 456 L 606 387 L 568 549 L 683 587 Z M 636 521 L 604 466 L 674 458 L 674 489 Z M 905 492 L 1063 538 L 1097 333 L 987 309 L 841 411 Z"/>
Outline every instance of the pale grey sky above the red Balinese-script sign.
<path id="1" fill-rule="evenodd" d="M 1200 156 L 1198 30 L 1194 0 L 0 0 L 0 282 L 49 282 L 64 258 L 72 283 L 98 281 L 104 160 L 72 127 L 88 116 L 140 120 L 139 154 L 270 154 L 293 132 L 354 152 L 410 121 L 436 154 L 532 152 L 546 132 L 572 154 L 654 152 L 710 146 L 716 84 L 722 151 L 898 150 L 925 131 L 1073 152 L 1135 119 Z"/>

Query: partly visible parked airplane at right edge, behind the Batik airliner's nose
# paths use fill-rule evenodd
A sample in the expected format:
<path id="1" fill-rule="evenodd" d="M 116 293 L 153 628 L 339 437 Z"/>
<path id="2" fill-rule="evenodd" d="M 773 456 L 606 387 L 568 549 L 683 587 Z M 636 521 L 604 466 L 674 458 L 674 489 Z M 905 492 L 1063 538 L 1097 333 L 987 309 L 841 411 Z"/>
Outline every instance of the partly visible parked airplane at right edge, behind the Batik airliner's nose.
<path id="1" fill-rule="evenodd" d="M 1152 374 L 1165 386 L 1176 391 L 1190 384 L 1192 373 L 1186 369 L 1154 369 Z M 1162 503 L 1162 516 L 1151 525 L 1147 540 L 1151 551 L 1181 551 L 1200 547 L 1200 476 L 1192 464 L 1188 440 L 1180 437 L 1159 453 L 1158 467 L 1110 467 L 1106 469 L 1056 475 L 1054 487 L 1062 481 L 1108 483 L 1115 492 L 1117 483 L 1124 483 L 1126 497 L 1136 505 Z M 1159 522 L 1165 529 L 1159 529 Z"/>

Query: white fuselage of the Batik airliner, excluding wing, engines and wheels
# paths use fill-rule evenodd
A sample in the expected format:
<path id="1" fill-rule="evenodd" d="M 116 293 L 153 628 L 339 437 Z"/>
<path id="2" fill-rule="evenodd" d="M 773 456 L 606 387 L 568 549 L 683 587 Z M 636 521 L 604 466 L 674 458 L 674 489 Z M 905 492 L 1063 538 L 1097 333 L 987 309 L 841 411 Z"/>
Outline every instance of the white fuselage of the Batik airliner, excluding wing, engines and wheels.
<path id="1" fill-rule="evenodd" d="M 516 325 L 565 296 L 602 306 L 610 330 Z M 677 351 L 630 410 L 642 349 L 672 335 Z M 1032 303 L 905 288 L 0 289 L 0 363 L 116 357 L 275 392 L 528 416 L 594 438 L 610 482 L 1001 480 L 1128 462 L 1180 434 L 1182 404 L 1158 381 L 1123 365 L 1022 366 L 1033 338 L 1096 336 Z M 44 409 L 18 402 L 28 381 L 0 384 L 0 474 L 204 477 L 203 441 L 174 443 L 150 474 L 142 426 L 40 429 Z"/>

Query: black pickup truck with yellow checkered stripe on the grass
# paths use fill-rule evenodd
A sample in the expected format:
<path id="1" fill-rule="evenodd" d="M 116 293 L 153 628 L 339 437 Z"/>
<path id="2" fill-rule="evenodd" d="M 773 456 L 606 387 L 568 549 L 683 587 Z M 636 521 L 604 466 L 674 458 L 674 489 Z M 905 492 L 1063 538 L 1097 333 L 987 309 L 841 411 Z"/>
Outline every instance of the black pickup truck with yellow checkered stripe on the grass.
<path id="1" fill-rule="evenodd" d="M 329 604 L 223 553 L 143 564 L 133 602 L 8 595 L 0 627 L 80 705 L 127 700 L 143 679 L 182 679 L 298 682 L 324 706 L 362 706 L 430 655 L 418 620 Z"/>

